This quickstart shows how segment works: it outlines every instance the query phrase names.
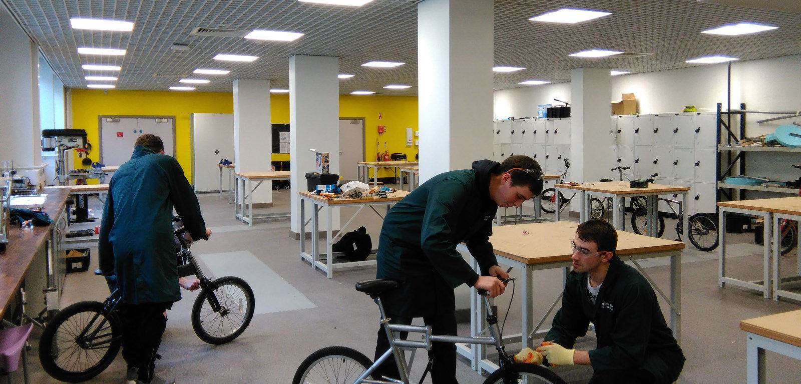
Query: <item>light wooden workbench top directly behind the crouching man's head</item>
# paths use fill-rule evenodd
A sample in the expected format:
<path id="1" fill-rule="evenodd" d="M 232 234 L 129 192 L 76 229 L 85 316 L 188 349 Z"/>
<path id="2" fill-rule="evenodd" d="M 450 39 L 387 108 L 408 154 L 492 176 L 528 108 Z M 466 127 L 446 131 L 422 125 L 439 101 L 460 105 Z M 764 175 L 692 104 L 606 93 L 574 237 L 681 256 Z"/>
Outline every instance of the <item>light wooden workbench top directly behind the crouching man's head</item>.
<path id="1" fill-rule="evenodd" d="M 493 227 L 489 242 L 495 254 L 529 265 L 570 261 L 576 228 L 578 223 L 572 221 L 501 225 Z M 524 230 L 529 234 L 523 234 Z M 679 249 L 684 249 L 684 243 L 618 231 L 618 256 Z"/>

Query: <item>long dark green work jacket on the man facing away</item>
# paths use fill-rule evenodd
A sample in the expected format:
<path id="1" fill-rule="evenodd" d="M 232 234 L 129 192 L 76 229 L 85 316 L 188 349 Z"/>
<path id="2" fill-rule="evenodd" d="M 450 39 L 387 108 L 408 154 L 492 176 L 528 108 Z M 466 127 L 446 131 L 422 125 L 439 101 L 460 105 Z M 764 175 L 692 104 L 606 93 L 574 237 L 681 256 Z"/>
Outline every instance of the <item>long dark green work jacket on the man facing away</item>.
<path id="1" fill-rule="evenodd" d="M 206 235 L 197 196 L 178 161 L 136 146 L 111 178 L 98 245 L 100 269 L 114 271 L 123 302 L 180 300 L 173 208 L 193 239 Z"/>

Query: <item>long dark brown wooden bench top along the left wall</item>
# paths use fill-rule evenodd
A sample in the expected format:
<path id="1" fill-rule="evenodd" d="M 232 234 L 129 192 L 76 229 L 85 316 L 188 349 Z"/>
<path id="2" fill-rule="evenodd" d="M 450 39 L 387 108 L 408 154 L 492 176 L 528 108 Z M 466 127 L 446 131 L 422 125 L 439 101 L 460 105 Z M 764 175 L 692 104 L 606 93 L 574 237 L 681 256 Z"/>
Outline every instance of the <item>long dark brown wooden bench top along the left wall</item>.
<path id="1" fill-rule="evenodd" d="M 64 209 L 69 190 L 65 188 L 44 188 L 41 191 L 46 194 L 44 212 L 50 215 L 50 219 L 58 220 L 58 213 Z M 30 205 L 14 206 L 16 208 L 32 208 Z M 36 251 L 42 246 L 50 235 L 50 227 L 34 227 L 33 229 L 21 229 L 13 224 L 9 228 L 8 245 L 6 249 L 0 251 L 0 318 L 6 312 L 6 307 L 11 298 L 17 294 L 19 286 L 22 285 L 22 278 L 30 267 L 30 263 L 36 256 Z"/>

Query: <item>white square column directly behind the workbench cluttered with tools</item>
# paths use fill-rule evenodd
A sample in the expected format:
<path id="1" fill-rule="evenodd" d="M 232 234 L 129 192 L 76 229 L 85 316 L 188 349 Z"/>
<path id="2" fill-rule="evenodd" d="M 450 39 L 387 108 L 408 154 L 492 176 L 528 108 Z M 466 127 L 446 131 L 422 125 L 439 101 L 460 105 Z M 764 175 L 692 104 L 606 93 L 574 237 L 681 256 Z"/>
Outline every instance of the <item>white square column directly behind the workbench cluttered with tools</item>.
<path id="1" fill-rule="evenodd" d="M 289 58 L 289 158 L 292 159 L 292 232 L 300 232 L 298 192 L 308 190 L 306 172 L 315 172 L 316 157 L 309 152 L 328 152 L 330 172 L 340 172 L 340 83 L 339 58 L 293 55 Z M 346 164 L 356 167 L 356 164 Z M 306 212 L 311 212 L 306 205 Z M 310 216 L 309 213 L 306 214 Z M 320 222 L 328 218 L 320 212 Z M 340 225 L 339 209 L 331 217 L 332 229 Z M 306 233 L 311 226 L 306 227 Z M 324 228 L 324 225 L 320 225 Z"/>

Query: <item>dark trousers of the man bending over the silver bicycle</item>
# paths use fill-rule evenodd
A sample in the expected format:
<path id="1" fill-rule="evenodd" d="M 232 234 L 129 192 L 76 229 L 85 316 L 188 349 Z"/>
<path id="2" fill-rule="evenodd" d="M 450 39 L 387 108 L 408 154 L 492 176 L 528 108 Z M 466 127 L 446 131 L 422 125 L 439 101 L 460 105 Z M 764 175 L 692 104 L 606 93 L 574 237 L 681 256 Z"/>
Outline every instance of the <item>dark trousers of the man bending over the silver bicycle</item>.
<path id="1" fill-rule="evenodd" d="M 425 325 L 431 325 L 433 334 L 456 335 L 456 305 L 453 288 L 445 284 L 438 275 L 425 278 L 410 278 L 400 288 L 381 297 L 384 310 L 393 324 L 411 324 L 413 317 L 423 317 Z M 400 314 L 399 314 L 400 313 Z M 419 333 L 418 333 L 419 335 Z M 405 332 L 400 334 L 406 338 Z M 413 336 L 417 340 L 417 336 Z M 389 349 L 384 327 L 378 329 L 375 360 Z M 456 346 L 453 343 L 435 342 L 429 351 L 433 358 L 431 379 L 434 384 L 456 384 Z M 374 361 L 375 361 L 374 360 Z M 382 364 L 373 378 L 387 376 L 400 378 L 395 359 L 390 357 Z"/>

